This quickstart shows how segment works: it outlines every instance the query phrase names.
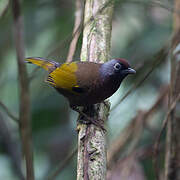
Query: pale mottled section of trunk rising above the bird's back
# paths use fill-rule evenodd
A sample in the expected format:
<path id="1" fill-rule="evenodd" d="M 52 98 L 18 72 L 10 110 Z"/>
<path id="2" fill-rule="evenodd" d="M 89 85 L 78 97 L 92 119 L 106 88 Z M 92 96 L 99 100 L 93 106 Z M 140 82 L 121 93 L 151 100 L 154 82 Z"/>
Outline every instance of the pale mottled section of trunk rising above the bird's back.
<path id="1" fill-rule="evenodd" d="M 111 44 L 112 7 L 112 2 L 109 0 L 86 1 L 82 61 L 107 61 Z"/>

